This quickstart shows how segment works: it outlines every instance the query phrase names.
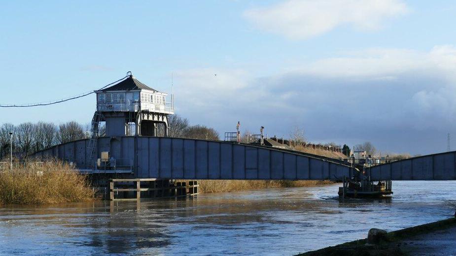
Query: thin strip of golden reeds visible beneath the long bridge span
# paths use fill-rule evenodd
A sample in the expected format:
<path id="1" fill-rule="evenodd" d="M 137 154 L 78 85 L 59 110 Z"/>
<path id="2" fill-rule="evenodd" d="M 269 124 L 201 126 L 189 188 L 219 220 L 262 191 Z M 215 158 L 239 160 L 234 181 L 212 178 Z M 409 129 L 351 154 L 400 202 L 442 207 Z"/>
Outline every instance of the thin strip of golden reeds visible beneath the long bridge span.
<path id="1" fill-rule="evenodd" d="M 201 180 L 200 192 L 219 193 L 253 189 L 311 187 L 333 184 L 331 181 Z"/>

